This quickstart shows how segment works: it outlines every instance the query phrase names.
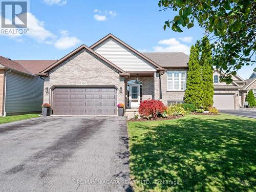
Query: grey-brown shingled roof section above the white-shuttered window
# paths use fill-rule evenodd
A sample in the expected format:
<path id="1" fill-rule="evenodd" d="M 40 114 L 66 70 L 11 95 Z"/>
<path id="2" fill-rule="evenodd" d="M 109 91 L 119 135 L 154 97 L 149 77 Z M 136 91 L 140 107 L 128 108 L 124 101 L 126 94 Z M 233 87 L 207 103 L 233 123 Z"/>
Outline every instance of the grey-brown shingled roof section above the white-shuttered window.
<path id="1" fill-rule="evenodd" d="M 146 57 L 154 60 L 158 65 L 164 67 L 185 67 L 187 68 L 187 63 L 189 56 L 185 53 L 142 53 Z"/>

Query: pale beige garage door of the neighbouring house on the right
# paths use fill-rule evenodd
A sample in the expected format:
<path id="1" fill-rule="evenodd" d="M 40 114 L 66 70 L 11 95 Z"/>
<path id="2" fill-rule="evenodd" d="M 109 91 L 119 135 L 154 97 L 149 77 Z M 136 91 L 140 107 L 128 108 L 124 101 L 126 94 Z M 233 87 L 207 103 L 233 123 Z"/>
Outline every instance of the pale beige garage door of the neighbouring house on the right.
<path id="1" fill-rule="evenodd" d="M 234 94 L 215 94 L 214 106 L 218 110 L 233 110 L 234 109 Z"/>

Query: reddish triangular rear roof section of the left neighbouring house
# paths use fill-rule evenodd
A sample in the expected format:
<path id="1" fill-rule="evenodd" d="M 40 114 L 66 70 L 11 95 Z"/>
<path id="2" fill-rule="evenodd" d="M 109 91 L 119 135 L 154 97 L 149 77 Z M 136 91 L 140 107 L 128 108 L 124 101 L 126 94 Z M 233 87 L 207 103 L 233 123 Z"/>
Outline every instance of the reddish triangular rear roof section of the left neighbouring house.
<path id="1" fill-rule="evenodd" d="M 23 66 L 32 74 L 37 74 L 40 71 L 50 67 L 56 60 L 14 60 Z"/>

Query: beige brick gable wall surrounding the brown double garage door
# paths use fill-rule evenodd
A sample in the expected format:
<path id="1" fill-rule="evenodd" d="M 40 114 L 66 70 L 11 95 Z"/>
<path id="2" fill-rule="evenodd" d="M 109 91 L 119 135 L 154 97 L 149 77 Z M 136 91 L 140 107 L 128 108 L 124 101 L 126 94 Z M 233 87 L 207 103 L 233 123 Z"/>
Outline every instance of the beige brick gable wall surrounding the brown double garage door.
<path id="1" fill-rule="evenodd" d="M 118 88 L 117 102 L 124 103 L 124 78 L 119 71 L 88 50 L 81 50 L 71 58 L 52 69 L 45 78 L 44 88 L 52 86 L 80 86 L 86 81 L 88 86 L 113 85 Z M 122 88 L 123 93 L 119 93 Z M 44 89 L 45 90 L 45 89 Z M 44 93 L 44 102 L 51 103 L 51 92 Z"/>

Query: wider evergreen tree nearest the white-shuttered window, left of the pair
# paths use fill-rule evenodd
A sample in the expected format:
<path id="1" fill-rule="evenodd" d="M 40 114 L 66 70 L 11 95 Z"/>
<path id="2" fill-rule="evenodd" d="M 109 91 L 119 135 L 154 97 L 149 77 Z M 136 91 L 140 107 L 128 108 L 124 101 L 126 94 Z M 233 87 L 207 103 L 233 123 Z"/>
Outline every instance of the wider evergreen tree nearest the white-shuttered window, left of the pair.
<path id="1" fill-rule="evenodd" d="M 185 103 L 193 103 L 197 108 L 200 108 L 202 106 L 202 95 L 199 51 L 197 46 L 192 46 L 188 61 L 187 84 L 184 101 Z"/>

